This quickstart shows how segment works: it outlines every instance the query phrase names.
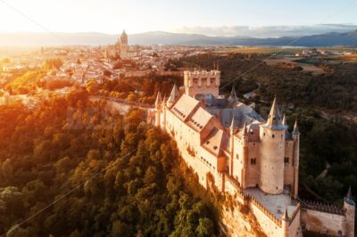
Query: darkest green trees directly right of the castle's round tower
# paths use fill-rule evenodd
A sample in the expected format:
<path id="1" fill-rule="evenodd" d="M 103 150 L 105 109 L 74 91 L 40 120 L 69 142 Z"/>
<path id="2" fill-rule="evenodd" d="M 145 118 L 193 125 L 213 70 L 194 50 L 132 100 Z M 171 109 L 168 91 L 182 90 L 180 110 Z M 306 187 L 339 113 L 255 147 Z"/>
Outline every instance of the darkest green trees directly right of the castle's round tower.
<path id="1" fill-rule="evenodd" d="M 321 119 L 318 113 L 302 110 L 287 114 L 289 127 L 299 120 L 300 180 L 323 200 L 341 204 L 351 185 L 357 190 L 357 126 L 344 120 Z M 321 172 L 328 168 L 326 176 Z M 316 198 L 300 192 L 303 198 Z"/>

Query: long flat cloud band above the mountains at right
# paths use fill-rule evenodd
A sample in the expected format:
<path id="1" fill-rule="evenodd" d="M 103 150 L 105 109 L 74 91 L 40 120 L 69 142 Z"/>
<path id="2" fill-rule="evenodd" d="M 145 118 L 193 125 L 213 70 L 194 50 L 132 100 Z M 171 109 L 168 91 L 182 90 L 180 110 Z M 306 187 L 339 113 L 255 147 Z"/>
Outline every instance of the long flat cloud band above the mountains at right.
<path id="1" fill-rule="evenodd" d="M 177 33 L 202 34 L 225 37 L 295 37 L 318 35 L 329 32 L 344 33 L 357 29 L 353 24 L 320 24 L 311 26 L 221 26 L 183 27 L 174 29 Z"/>

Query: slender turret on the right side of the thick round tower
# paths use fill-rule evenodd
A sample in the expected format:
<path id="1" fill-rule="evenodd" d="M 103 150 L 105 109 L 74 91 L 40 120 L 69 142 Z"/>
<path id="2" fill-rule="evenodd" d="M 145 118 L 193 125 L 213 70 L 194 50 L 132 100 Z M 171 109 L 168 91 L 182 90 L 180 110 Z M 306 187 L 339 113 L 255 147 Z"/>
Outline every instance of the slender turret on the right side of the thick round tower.
<path id="1" fill-rule="evenodd" d="M 293 167 L 294 167 L 294 189 L 293 197 L 297 199 L 298 188 L 299 188 L 299 163 L 300 163 L 300 132 L 297 127 L 297 120 L 295 120 L 294 130 L 293 130 L 293 140 L 294 140 L 294 157 L 293 157 Z"/>

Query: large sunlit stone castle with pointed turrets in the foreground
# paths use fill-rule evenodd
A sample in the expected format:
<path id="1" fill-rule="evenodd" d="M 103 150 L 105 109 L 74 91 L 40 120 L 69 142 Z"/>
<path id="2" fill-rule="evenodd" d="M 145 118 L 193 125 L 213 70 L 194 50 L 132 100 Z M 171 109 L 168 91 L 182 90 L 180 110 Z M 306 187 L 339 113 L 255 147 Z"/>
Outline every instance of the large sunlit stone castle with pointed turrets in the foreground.
<path id="1" fill-rule="evenodd" d="M 344 207 L 300 200 L 300 133 L 289 131 L 272 103 L 267 120 L 237 100 L 219 94 L 220 71 L 185 71 L 184 92 L 157 94 L 151 114 L 178 144 L 179 152 L 205 188 L 216 187 L 248 207 L 267 236 L 323 233 L 354 236 L 351 190 Z"/>

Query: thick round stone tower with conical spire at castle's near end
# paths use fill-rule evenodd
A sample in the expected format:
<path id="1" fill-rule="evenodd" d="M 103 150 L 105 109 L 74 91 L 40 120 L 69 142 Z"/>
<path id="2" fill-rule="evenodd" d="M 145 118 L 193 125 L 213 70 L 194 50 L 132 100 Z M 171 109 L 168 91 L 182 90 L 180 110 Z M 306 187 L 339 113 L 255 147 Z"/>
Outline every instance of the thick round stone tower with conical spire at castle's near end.
<path id="1" fill-rule="evenodd" d="M 260 187 L 269 194 L 280 194 L 284 190 L 285 134 L 286 126 L 283 125 L 277 99 L 274 98 L 268 120 L 260 129 Z"/>

